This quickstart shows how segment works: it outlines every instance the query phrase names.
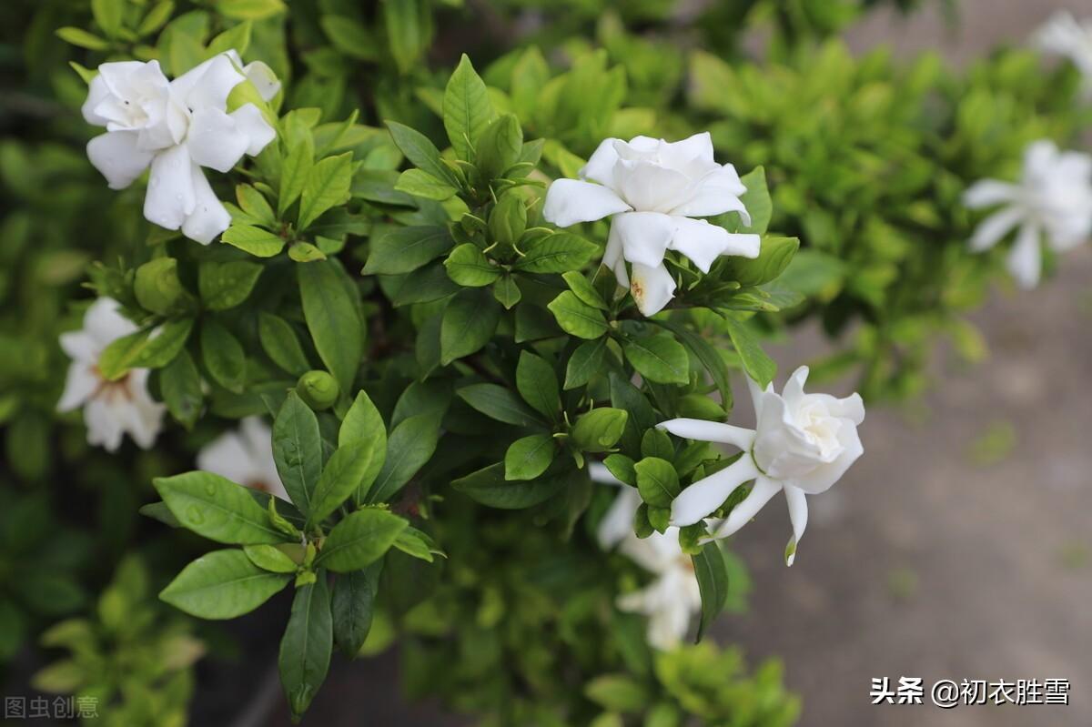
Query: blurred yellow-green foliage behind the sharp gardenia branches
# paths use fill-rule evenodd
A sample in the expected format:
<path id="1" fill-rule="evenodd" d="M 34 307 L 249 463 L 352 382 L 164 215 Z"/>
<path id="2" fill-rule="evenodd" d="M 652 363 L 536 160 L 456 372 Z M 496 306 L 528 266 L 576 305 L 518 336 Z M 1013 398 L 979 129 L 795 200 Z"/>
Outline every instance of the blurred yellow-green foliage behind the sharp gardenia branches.
<path id="1" fill-rule="evenodd" d="M 0 4 L 0 669 L 10 682 L 51 663 L 34 682 L 41 690 L 100 695 L 124 716 L 117 724 L 183 724 L 194 689 L 201 699 L 192 664 L 202 639 L 225 639 L 154 596 L 198 552 L 195 539 L 136 515 L 154 497 L 151 478 L 188 468 L 215 424 L 171 431 L 154 452 L 127 444 L 110 456 L 86 445 L 79 415 L 55 414 L 67 366 L 57 337 L 80 320 L 71 301 L 87 297 L 88 265 L 149 259 L 140 190 L 108 190 L 86 162 L 86 86 L 70 62 L 158 58 L 176 73 L 210 46 L 246 39 L 285 82 L 286 107 L 320 108 L 324 122 L 360 111 L 363 186 L 402 160 L 383 121 L 442 136 L 442 83 L 462 52 L 497 108 L 517 112 L 527 138 L 546 139 L 544 165 L 556 175 L 573 176 L 605 136 L 709 129 L 725 159 L 765 168 L 771 228 L 803 243 L 779 283 L 806 298 L 764 317 L 764 331 L 818 322 L 833 353 L 815 378 L 852 374 L 870 401 L 906 402 L 928 385 L 939 339 L 982 358 L 985 344 L 962 315 L 1007 284 L 1000 252 L 965 249 L 963 189 L 1014 176 L 1028 142 L 1065 144 L 1089 119 L 1075 103 L 1076 71 L 1045 70 L 1024 49 L 965 70 L 933 55 L 897 61 L 882 48 L 854 57 L 836 35 L 878 4 L 921 3 Z M 99 267 L 93 277 L 109 275 Z M 595 497 L 605 506 L 605 493 Z M 688 714 L 709 725 L 794 722 L 799 705 L 776 664 L 749 672 L 737 652 L 711 645 L 653 655 L 639 624 L 610 617 L 614 595 L 640 572 L 583 557 L 597 550 L 586 533 L 562 541 L 531 521 L 453 500 L 435 523 L 448 531 L 447 567 L 406 558 L 387 569 L 365 652 L 401 634 L 408 694 L 496 725 L 574 724 L 572 715 L 600 727 L 642 724 L 636 715 L 657 727 Z M 521 568 L 530 561 L 541 562 Z M 427 597 L 406 586 L 424 579 L 434 582 Z M 743 607 L 745 574 L 733 587 Z"/>

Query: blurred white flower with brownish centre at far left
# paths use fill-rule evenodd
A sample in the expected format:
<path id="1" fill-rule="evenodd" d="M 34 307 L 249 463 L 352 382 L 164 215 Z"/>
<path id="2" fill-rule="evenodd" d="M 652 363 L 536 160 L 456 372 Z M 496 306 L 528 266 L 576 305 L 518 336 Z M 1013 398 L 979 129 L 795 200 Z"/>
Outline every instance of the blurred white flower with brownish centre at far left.
<path id="1" fill-rule="evenodd" d="M 147 369 L 130 369 L 117 381 L 98 372 L 98 357 L 111 343 L 136 331 L 110 298 L 99 298 L 83 317 L 83 330 L 62 333 L 61 348 L 72 359 L 58 412 L 83 407 L 87 443 L 114 452 L 128 432 L 142 449 L 155 442 L 166 407 L 147 393 Z"/>

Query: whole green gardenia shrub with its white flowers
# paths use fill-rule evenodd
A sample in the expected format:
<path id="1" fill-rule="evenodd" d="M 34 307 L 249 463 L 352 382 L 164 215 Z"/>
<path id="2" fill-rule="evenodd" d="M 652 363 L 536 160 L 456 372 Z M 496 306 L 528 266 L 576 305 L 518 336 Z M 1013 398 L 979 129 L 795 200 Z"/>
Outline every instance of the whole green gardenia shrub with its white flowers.
<path id="1" fill-rule="evenodd" d="M 0 657 L 112 577 L 45 631 L 72 658 L 36 684 L 181 724 L 207 633 L 183 613 L 290 592 L 268 637 L 295 718 L 335 649 L 397 642 L 408 694 L 487 725 L 792 724 L 780 665 L 705 637 L 745 607 L 726 538 L 783 493 L 793 564 L 807 498 L 863 454 L 862 396 L 823 377 L 919 392 L 939 334 L 981 354 L 959 317 L 992 281 L 1087 237 L 1078 74 L 853 58 L 821 40 L 847 1 L 711 3 L 698 45 L 673 3 L 583 3 L 499 49 L 447 4 L 13 20 L 60 110 L 0 144 L 24 484 L 0 506 Z M 762 60 L 725 14 L 772 23 Z M 817 319 L 836 351 L 805 393 L 763 345 Z M 57 546 L 86 534 L 50 502 L 97 513 L 109 568 Z"/>

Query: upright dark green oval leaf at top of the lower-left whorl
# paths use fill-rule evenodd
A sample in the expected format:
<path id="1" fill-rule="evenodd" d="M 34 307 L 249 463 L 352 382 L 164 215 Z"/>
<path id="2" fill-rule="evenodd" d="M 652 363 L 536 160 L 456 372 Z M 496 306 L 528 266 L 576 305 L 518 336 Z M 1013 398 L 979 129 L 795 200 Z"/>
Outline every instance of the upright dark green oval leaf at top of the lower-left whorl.
<path id="1" fill-rule="evenodd" d="M 273 420 L 273 462 L 293 504 L 308 514 L 322 472 L 322 437 L 314 412 L 295 391 Z"/>

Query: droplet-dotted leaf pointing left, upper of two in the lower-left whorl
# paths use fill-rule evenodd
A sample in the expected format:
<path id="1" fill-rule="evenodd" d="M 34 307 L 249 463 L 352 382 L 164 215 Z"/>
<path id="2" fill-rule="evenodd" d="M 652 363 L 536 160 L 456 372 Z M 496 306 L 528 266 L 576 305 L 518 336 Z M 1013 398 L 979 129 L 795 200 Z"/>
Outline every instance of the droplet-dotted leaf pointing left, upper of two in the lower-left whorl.
<path id="1" fill-rule="evenodd" d="M 260 545 L 284 543 L 269 512 L 247 488 L 209 472 L 156 477 L 156 491 L 183 527 L 210 540 Z"/>

